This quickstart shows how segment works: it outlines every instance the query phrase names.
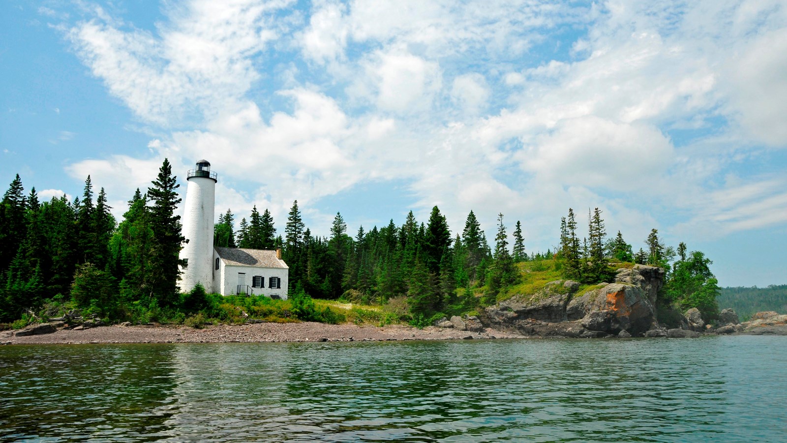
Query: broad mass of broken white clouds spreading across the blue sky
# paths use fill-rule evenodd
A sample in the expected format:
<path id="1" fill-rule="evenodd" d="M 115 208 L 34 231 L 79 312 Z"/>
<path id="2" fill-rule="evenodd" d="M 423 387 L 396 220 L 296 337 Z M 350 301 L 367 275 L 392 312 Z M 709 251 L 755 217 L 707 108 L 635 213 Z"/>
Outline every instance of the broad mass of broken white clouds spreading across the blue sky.
<path id="1" fill-rule="evenodd" d="M 164 156 L 178 170 L 209 158 L 220 207 L 257 204 L 279 220 L 294 199 L 308 209 L 364 181 L 395 181 L 415 195 L 414 209 L 439 204 L 455 227 L 470 209 L 489 229 L 501 211 L 511 225 L 527 220 L 542 242 L 534 248 L 549 246 L 569 206 L 602 207 L 610 229 L 636 236 L 674 207 L 719 233 L 781 222 L 676 197 L 715 201 L 737 189 L 715 181 L 747 161 L 742 152 L 757 140 L 787 143 L 778 1 L 289 6 L 195 1 L 168 9 L 155 30 L 105 13 L 72 27 L 77 54 L 111 94 L 153 125 L 181 127 L 139 161 L 144 181 Z M 569 26 L 582 37 L 555 42 Z M 667 136 L 701 128 L 711 135 Z M 142 171 L 133 161 L 88 160 L 72 173 Z M 774 186 L 761 189 L 755 206 L 740 206 L 781 202 Z"/>

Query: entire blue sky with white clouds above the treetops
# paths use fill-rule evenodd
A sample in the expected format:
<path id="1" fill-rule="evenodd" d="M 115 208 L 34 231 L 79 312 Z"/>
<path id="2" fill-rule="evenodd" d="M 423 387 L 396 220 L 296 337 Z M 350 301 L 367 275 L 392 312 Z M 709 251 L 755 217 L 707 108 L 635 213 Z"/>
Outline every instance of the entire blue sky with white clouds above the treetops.
<path id="1" fill-rule="evenodd" d="M 327 236 L 438 206 L 559 243 L 602 210 L 787 284 L 787 2 L 6 0 L 0 186 L 105 188 L 121 218 L 164 158 L 201 158 L 216 217 L 297 199 Z"/>

